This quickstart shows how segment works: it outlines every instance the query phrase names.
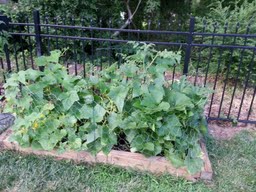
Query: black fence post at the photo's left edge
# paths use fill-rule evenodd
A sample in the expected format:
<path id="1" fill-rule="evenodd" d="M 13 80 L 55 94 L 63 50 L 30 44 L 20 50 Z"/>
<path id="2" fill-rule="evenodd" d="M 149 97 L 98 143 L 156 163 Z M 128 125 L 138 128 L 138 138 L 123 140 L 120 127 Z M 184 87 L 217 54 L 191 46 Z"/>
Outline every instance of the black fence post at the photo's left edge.
<path id="1" fill-rule="evenodd" d="M 7 16 L 4 16 L 4 15 L 0 15 L 0 32 L 4 32 L 4 31 L 8 31 L 8 28 L 9 28 L 9 22 L 10 22 L 10 19 L 7 17 Z M 4 37 L 4 34 L 1 34 L 3 35 L 3 38 Z M 6 37 L 8 38 L 8 37 Z M 6 58 L 6 64 L 7 64 L 7 71 L 8 72 L 12 72 L 12 67 L 11 67 L 11 60 L 10 60 L 10 52 L 9 52 L 9 49 L 8 49 L 8 45 L 5 43 L 3 45 L 3 51 L 4 51 L 4 54 L 5 54 L 5 58 Z"/>

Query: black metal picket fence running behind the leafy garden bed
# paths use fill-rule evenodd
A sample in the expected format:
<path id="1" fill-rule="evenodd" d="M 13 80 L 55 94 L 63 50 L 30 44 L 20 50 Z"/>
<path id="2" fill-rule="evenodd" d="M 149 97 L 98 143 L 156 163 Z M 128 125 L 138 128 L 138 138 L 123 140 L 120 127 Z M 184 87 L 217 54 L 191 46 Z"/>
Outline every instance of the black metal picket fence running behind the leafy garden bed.
<path id="1" fill-rule="evenodd" d="M 182 27 L 148 21 L 139 30 L 118 28 L 111 20 L 40 18 L 39 11 L 34 11 L 33 21 L 0 19 L 6 23 L 1 31 L 11 36 L 0 59 L 2 82 L 7 73 L 36 68 L 34 57 L 53 49 L 65 50 L 62 60 L 70 73 L 86 76 L 95 67 L 121 64 L 117 53 L 127 53 L 129 41 L 153 43 L 157 49 L 180 50 L 184 58 L 166 78 L 174 81 L 185 74 L 195 85 L 214 90 L 205 110 L 209 120 L 256 124 L 256 30 L 250 23 L 221 26 L 191 17 Z"/>

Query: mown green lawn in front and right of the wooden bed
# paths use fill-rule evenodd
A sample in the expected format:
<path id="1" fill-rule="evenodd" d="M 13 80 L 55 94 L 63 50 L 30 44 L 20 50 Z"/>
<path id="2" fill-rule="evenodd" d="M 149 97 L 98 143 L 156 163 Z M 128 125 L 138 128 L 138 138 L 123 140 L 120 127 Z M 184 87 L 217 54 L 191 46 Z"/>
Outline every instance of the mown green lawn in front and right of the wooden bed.
<path id="1" fill-rule="evenodd" d="M 207 143 L 215 171 L 211 183 L 191 183 L 104 165 L 0 153 L 0 191 L 256 191 L 256 134 Z"/>

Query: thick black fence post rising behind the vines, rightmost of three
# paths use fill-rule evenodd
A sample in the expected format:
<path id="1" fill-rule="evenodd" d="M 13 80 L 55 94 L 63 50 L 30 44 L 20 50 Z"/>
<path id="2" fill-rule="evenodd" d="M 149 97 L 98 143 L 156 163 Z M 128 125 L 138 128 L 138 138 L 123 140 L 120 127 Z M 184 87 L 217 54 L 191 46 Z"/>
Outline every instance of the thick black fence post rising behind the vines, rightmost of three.
<path id="1" fill-rule="evenodd" d="M 194 30 L 195 30 L 195 17 L 190 17 L 189 34 L 187 37 L 187 46 L 186 46 L 185 59 L 184 59 L 183 75 L 188 74 L 188 65 L 189 65 L 190 56 L 191 56 L 191 48 L 192 48 L 191 44 L 193 42 Z"/>

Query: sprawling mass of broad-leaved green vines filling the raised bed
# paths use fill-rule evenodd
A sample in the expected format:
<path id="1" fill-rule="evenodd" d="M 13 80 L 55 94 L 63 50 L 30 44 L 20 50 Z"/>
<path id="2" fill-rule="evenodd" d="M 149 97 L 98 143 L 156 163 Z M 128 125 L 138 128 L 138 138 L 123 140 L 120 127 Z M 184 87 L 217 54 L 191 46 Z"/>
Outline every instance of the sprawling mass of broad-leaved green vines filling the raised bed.
<path id="1" fill-rule="evenodd" d="M 5 111 L 16 113 L 13 139 L 45 150 L 108 154 L 120 137 L 132 152 L 164 155 L 192 173 L 202 166 L 199 139 L 207 130 L 207 90 L 185 77 L 172 85 L 164 73 L 180 53 L 133 44 L 135 54 L 82 79 L 58 63 L 60 52 L 36 60 L 44 71 L 12 74 L 4 85 Z"/>

